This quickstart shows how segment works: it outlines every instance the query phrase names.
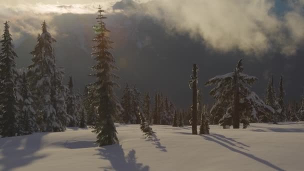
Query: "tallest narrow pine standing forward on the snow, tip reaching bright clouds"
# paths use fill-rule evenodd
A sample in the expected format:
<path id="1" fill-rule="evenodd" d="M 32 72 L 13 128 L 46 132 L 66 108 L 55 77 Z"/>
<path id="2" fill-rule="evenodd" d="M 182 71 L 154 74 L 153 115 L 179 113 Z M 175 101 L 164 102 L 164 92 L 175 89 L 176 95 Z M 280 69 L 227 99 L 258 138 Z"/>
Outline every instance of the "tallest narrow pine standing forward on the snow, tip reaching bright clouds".
<path id="1" fill-rule="evenodd" d="M 104 10 L 99 5 L 99 14 L 96 17 L 98 24 L 94 26 L 96 36 L 93 41 L 95 45 L 93 46 L 94 51 L 91 53 L 97 61 L 97 64 L 92 66 L 95 73 L 91 75 L 95 76 L 97 80 L 90 85 L 95 94 L 93 103 L 97 104 L 98 111 L 92 132 L 97 134 L 96 142 L 99 146 L 118 142 L 113 117 L 119 115 L 120 112 L 120 103 L 114 94 L 114 88 L 119 87 L 118 83 L 115 82 L 118 76 L 113 73 L 117 67 L 114 57 L 109 52 L 112 41 L 107 36 L 109 30 L 105 28 L 103 19 L 106 17 L 103 16 L 102 12 Z"/>

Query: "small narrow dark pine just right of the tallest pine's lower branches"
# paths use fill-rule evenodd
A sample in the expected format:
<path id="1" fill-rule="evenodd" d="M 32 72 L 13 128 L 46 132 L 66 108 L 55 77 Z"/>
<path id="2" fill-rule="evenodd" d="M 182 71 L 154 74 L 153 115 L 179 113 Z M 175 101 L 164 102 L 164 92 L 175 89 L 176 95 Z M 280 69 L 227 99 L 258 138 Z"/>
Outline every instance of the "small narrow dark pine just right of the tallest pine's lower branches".
<path id="1" fill-rule="evenodd" d="M 123 94 L 121 97 L 121 106 L 123 108 L 122 112 L 122 121 L 124 123 L 132 123 L 136 118 L 132 117 L 132 108 L 131 108 L 131 91 L 128 84 L 125 84 Z"/>

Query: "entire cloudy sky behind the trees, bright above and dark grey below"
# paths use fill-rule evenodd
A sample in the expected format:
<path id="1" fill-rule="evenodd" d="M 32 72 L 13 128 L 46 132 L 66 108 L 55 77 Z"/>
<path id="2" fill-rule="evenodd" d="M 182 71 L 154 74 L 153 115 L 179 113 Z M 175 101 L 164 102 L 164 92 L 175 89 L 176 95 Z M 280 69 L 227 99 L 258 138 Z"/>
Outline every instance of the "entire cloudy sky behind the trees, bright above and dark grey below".
<path id="1" fill-rule="evenodd" d="M 170 88 L 170 82 L 164 80 L 175 72 L 179 75 L 171 82 L 187 82 L 191 69 L 180 69 L 183 63 L 190 66 L 195 61 L 219 63 L 217 67 L 203 64 L 209 69 L 201 69 L 205 81 L 214 74 L 231 71 L 227 68 L 233 68 L 237 58 L 243 57 L 248 71 L 261 80 L 273 72 L 285 74 L 286 86 L 292 91 L 289 97 L 294 98 L 302 91 L 302 85 L 291 86 L 296 84 L 296 76 L 291 74 L 300 76 L 304 71 L 293 64 L 299 60 L 298 56 L 304 55 L 301 52 L 304 0 L 0 0 L 0 22 L 10 21 L 14 44 L 21 56 L 19 66 L 25 67 L 30 62 L 28 52 L 40 32 L 40 23 L 46 20 L 49 31 L 57 39 L 58 64 L 66 68 L 68 75 L 80 75 L 75 78 L 78 87 L 88 83 L 84 70 L 88 70 L 92 59 L 83 56 L 89 56 L 91 51 L 91 26 L 99 4 L 106 10 L 106 23 L 115 40 L 114 53 L 121 68 L 122 86 L 124 81 L 137 82 L 142 89 L 163 88 L 173 98 L 182 98 L 188 93 L 187 84 Z M 120 10 L 113 11 L 113 5 Z M 79 51 L 74 54 L 62 49 L 67 47 Z M 71 66 L 72 57 L 79 62 Z M 152 71 L 140 66 L 149 64 L 147 61 L 162 67 L 159 69 L 162 72 L 167 66 L 159 66 L 157 62 L 174 66 L 165 74 L 157 71 L 153 75 L 154 65 L 148 66 Z M 260 68 L 251 66 L 253 63 L 260 63 Z M 265 63 L 271 66 L 265 68 Z M 139 72 L 140 69 L 144 71 Z M 261 95 L 262 86 L 258 90 Z M 182 91 L 181 96 L 176 91 Z"/>

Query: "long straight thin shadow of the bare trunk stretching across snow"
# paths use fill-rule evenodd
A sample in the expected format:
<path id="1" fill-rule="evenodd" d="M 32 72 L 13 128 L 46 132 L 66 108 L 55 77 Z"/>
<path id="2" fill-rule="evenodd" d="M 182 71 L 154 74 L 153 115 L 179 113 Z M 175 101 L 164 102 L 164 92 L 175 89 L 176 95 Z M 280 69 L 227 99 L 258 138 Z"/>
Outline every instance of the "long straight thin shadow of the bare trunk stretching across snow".
<path id="1" fill-rule="evenodd" d="M 264 159 L 262 159 L 262 158 L 259 158 L 259 157 L 255 156 L 255 155 L 253 155 L 253 154 L 250 154 L 250 153 L 247 153 L 247 152 L 238 150 L 238 149 L 236 149 L 236 148 L 234 148 L 234 147 L 231 147 L 231 146 L 229 146 L 229 145 L 223 143 L 223 142 L 226 142 L 226 141 L 221 141 L 221 139 L 215 138 L 214 136 L 212 136 L 212 134 L 209 134 L 209 135 L 201 135 L 201 136 L 202 136 L 204 139 L 206 139 L 206 140 L 215 142 L 215 143 L 217 143 L 217 144 L 219 144 L 219 145 L 221 145 L 221 146 L 223 146 L 223 147 L 228 148 L 229 150 L 231 150 L 231 151 L 233 151 L 233 152 L 237 152 L 237 153 L 242 154 L 242 155 L 244 155 L 244 156 L 246 156 L 246 157 L 249 157 L 249 158 L 251 158 L 251 159 L 254 159 L 254 160 L 256 160 L 256 161 L 258 161 L 258 162 L 260 162 L 260 163 L 262 163 L 262 164 L 267 165 L 268 167 L 271 167 L 271 168 L 275 169 L 275 170 L 284 171 L 284 169 L 282 169 L 282 168 L 280 168 L 280 167 L 278 167 L 278 166 L 272 164 L 271 162 L 269 162 L 269 161 L 267 161 L 267 160 L 264 160 Z"/>

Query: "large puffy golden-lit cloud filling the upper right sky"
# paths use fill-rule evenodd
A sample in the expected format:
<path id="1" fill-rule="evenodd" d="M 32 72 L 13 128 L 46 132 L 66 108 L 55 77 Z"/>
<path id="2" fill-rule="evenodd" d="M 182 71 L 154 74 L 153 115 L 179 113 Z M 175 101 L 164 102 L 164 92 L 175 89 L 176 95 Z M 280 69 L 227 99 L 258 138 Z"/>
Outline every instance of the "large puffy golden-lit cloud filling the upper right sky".
<path id="1" fill-rule="evenodd" d="M 157 0 L 147 11 L 169 29 L 187 32 L 216 50 L 291 55 L 303 38 L 304 0 L 287 5 L 282 17 L 274 12 L 275 0 Z"/>

